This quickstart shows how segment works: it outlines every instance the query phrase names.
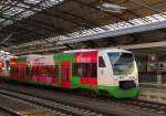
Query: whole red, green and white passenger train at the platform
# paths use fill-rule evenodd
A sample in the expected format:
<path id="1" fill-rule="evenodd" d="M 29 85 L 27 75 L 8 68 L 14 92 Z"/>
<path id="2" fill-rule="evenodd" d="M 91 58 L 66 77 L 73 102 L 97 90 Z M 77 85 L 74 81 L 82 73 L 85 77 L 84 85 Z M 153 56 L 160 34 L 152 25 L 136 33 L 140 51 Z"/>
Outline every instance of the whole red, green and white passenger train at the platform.
<path id="1" fill-rule="evenodd" d="M 1 78 L 63 88 L 91 89 L 117 98 L 138 95 L 138 73 L 129 51 L 73 50 L 12 57 Z"/>

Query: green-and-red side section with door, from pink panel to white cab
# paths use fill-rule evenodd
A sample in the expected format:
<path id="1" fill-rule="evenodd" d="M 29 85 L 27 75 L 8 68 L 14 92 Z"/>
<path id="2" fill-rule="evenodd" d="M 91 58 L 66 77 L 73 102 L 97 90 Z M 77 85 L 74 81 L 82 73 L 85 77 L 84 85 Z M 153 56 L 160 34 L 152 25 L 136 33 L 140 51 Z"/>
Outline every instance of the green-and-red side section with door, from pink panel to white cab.
<path id="1" fill-rule="evenodd" d="M 96 88 L 96 63 L 97 51 L 55 54 L 54 64 L 60 66 L 60 87 Z"/>

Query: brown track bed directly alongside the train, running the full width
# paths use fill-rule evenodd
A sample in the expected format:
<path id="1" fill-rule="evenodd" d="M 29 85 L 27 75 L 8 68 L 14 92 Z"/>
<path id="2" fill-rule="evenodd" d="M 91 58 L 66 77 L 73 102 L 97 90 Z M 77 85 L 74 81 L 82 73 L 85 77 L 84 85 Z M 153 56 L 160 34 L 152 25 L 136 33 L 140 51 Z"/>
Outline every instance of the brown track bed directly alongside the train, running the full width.
<path id="1" fill-rule="evenodd" d="M 21 92 L 22 94 L 42 96 L 45 99 L 59 101 L 68 105 L 75 105 L 76 107 L 86 107 L 89 109 L 98 110 L 100 113 L 105 113 L 108 115 L 118 116 L 165 116 L 166 105 L 143 102 L 138 99 L 116 99 L 105 96 L 100 97 L 84 97 L 81 95 L 73 95 L 73 93 L 63 93 L 52 89 L 42 88 L 39 91 L 38 87 L 25 87 L 20 89 L 14 85 L 15 88 L 0 86 L 7 91 Z M 21 87 L 22 88 L 22 87 Z M 29 91 L 27 93 L 27 91 Z M 45 94 L 42 94 L 45 93 Z M 113 116 L 114 116 L 113 115 Z M 77 115 L 76 115 L 77 116 Z"/>

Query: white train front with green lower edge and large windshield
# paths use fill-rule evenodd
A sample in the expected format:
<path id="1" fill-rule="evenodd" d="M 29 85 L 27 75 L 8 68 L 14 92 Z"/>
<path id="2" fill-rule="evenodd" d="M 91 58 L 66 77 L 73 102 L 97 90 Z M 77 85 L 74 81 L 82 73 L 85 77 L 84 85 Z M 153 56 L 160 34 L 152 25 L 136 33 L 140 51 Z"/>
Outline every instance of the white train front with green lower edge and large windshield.
<path id="1" fill-rule="evenodd" d="M 98 89 L 117 98 L 138 95 L 138 73 L 134 55 L 124 50 L 98 52 Z"/>

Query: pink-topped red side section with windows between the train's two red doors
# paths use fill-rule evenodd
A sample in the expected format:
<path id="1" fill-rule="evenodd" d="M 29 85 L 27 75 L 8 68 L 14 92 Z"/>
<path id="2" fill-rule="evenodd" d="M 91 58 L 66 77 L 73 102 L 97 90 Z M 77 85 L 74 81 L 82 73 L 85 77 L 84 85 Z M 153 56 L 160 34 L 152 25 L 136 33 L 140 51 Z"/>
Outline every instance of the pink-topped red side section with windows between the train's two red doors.
<path id="1" fill-rule="evenodd" d="M 53 55 L 28 57 L 29 82 L 58 86 L 59 67 L 54 65 Z"/>

